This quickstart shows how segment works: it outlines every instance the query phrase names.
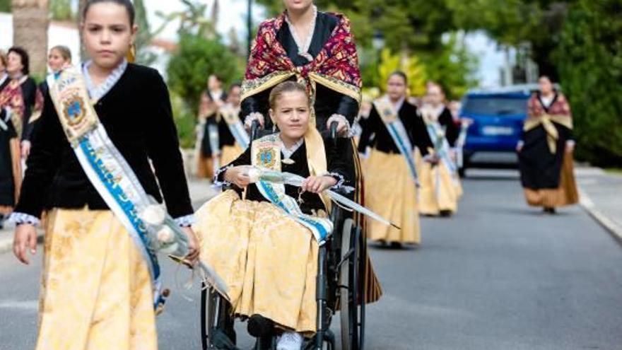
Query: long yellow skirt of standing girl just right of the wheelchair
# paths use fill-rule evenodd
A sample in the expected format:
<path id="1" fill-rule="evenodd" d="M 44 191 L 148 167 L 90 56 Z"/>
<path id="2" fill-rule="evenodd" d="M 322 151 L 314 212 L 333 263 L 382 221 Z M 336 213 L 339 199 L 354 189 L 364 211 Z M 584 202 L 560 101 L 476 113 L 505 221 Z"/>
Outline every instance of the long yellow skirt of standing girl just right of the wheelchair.
<path id="1" fill-rule="evenodd" d="M 399 243 L 421 243 L 416 186 L 399 153 L 372 149 L 365 161 L 365 206 L 401 230 L 367 219 L 368 238 Z"/>

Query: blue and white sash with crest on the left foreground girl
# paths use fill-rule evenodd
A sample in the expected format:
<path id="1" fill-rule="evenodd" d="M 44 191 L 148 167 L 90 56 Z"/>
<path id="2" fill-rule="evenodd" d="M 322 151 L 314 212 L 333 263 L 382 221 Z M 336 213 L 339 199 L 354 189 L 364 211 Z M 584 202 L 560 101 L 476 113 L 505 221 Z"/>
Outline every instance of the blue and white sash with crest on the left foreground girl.
<path id="1" fill-rule="evenodd" d="M 145 192 L 134 170 L 110 140 L 93 108 L 96 101 L 90 98 L 83 73 L 75 68 L 66 69 L 48 83 L 61 125 L 88 180 L 147 262 L 157 308 L 163 299 L 156 253 L 187 255 L 187 237 L 163 207 Z"/>

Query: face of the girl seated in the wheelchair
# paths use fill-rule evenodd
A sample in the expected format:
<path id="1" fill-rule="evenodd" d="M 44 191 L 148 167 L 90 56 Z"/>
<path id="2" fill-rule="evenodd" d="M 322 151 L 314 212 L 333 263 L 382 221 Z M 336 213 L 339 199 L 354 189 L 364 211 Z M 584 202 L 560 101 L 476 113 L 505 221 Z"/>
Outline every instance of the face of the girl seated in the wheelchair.
<path id="1" fill-rule="evenodd" d="M 309 98 L 301 91 L 283 93 L 276 99 L 270 117 L 288 139 L 300 139 L 307 132 L 310 118 Z"/>

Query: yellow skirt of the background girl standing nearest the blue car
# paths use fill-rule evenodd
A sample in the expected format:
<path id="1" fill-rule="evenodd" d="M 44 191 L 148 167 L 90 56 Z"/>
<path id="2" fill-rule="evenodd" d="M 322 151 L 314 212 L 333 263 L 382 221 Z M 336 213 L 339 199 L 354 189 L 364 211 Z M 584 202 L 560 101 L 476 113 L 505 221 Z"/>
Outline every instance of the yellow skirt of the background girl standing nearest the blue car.
<path id="1" fill-rule="evenodd" d="M 421 153 L 415 153 L 419 175 L 419 212 L 437 216 L 440 211 L 456 212 L 458 199 L 462 196 L 459 179 L 441 161 L 437 165 L 424 162 Z"/>

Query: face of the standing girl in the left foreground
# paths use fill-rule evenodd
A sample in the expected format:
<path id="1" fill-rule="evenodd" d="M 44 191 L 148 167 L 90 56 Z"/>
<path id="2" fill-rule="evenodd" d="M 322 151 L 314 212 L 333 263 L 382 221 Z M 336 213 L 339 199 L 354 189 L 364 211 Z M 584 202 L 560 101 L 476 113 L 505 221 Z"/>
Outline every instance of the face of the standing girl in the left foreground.
<path id="1" fill-rule="evenodd" d="M 114 69 L 126 57 L 136 37 L 127 9 L 113 2 L 100 2 L 88 8 L 83 22 L 84 46 L 93 64 Z"/>

